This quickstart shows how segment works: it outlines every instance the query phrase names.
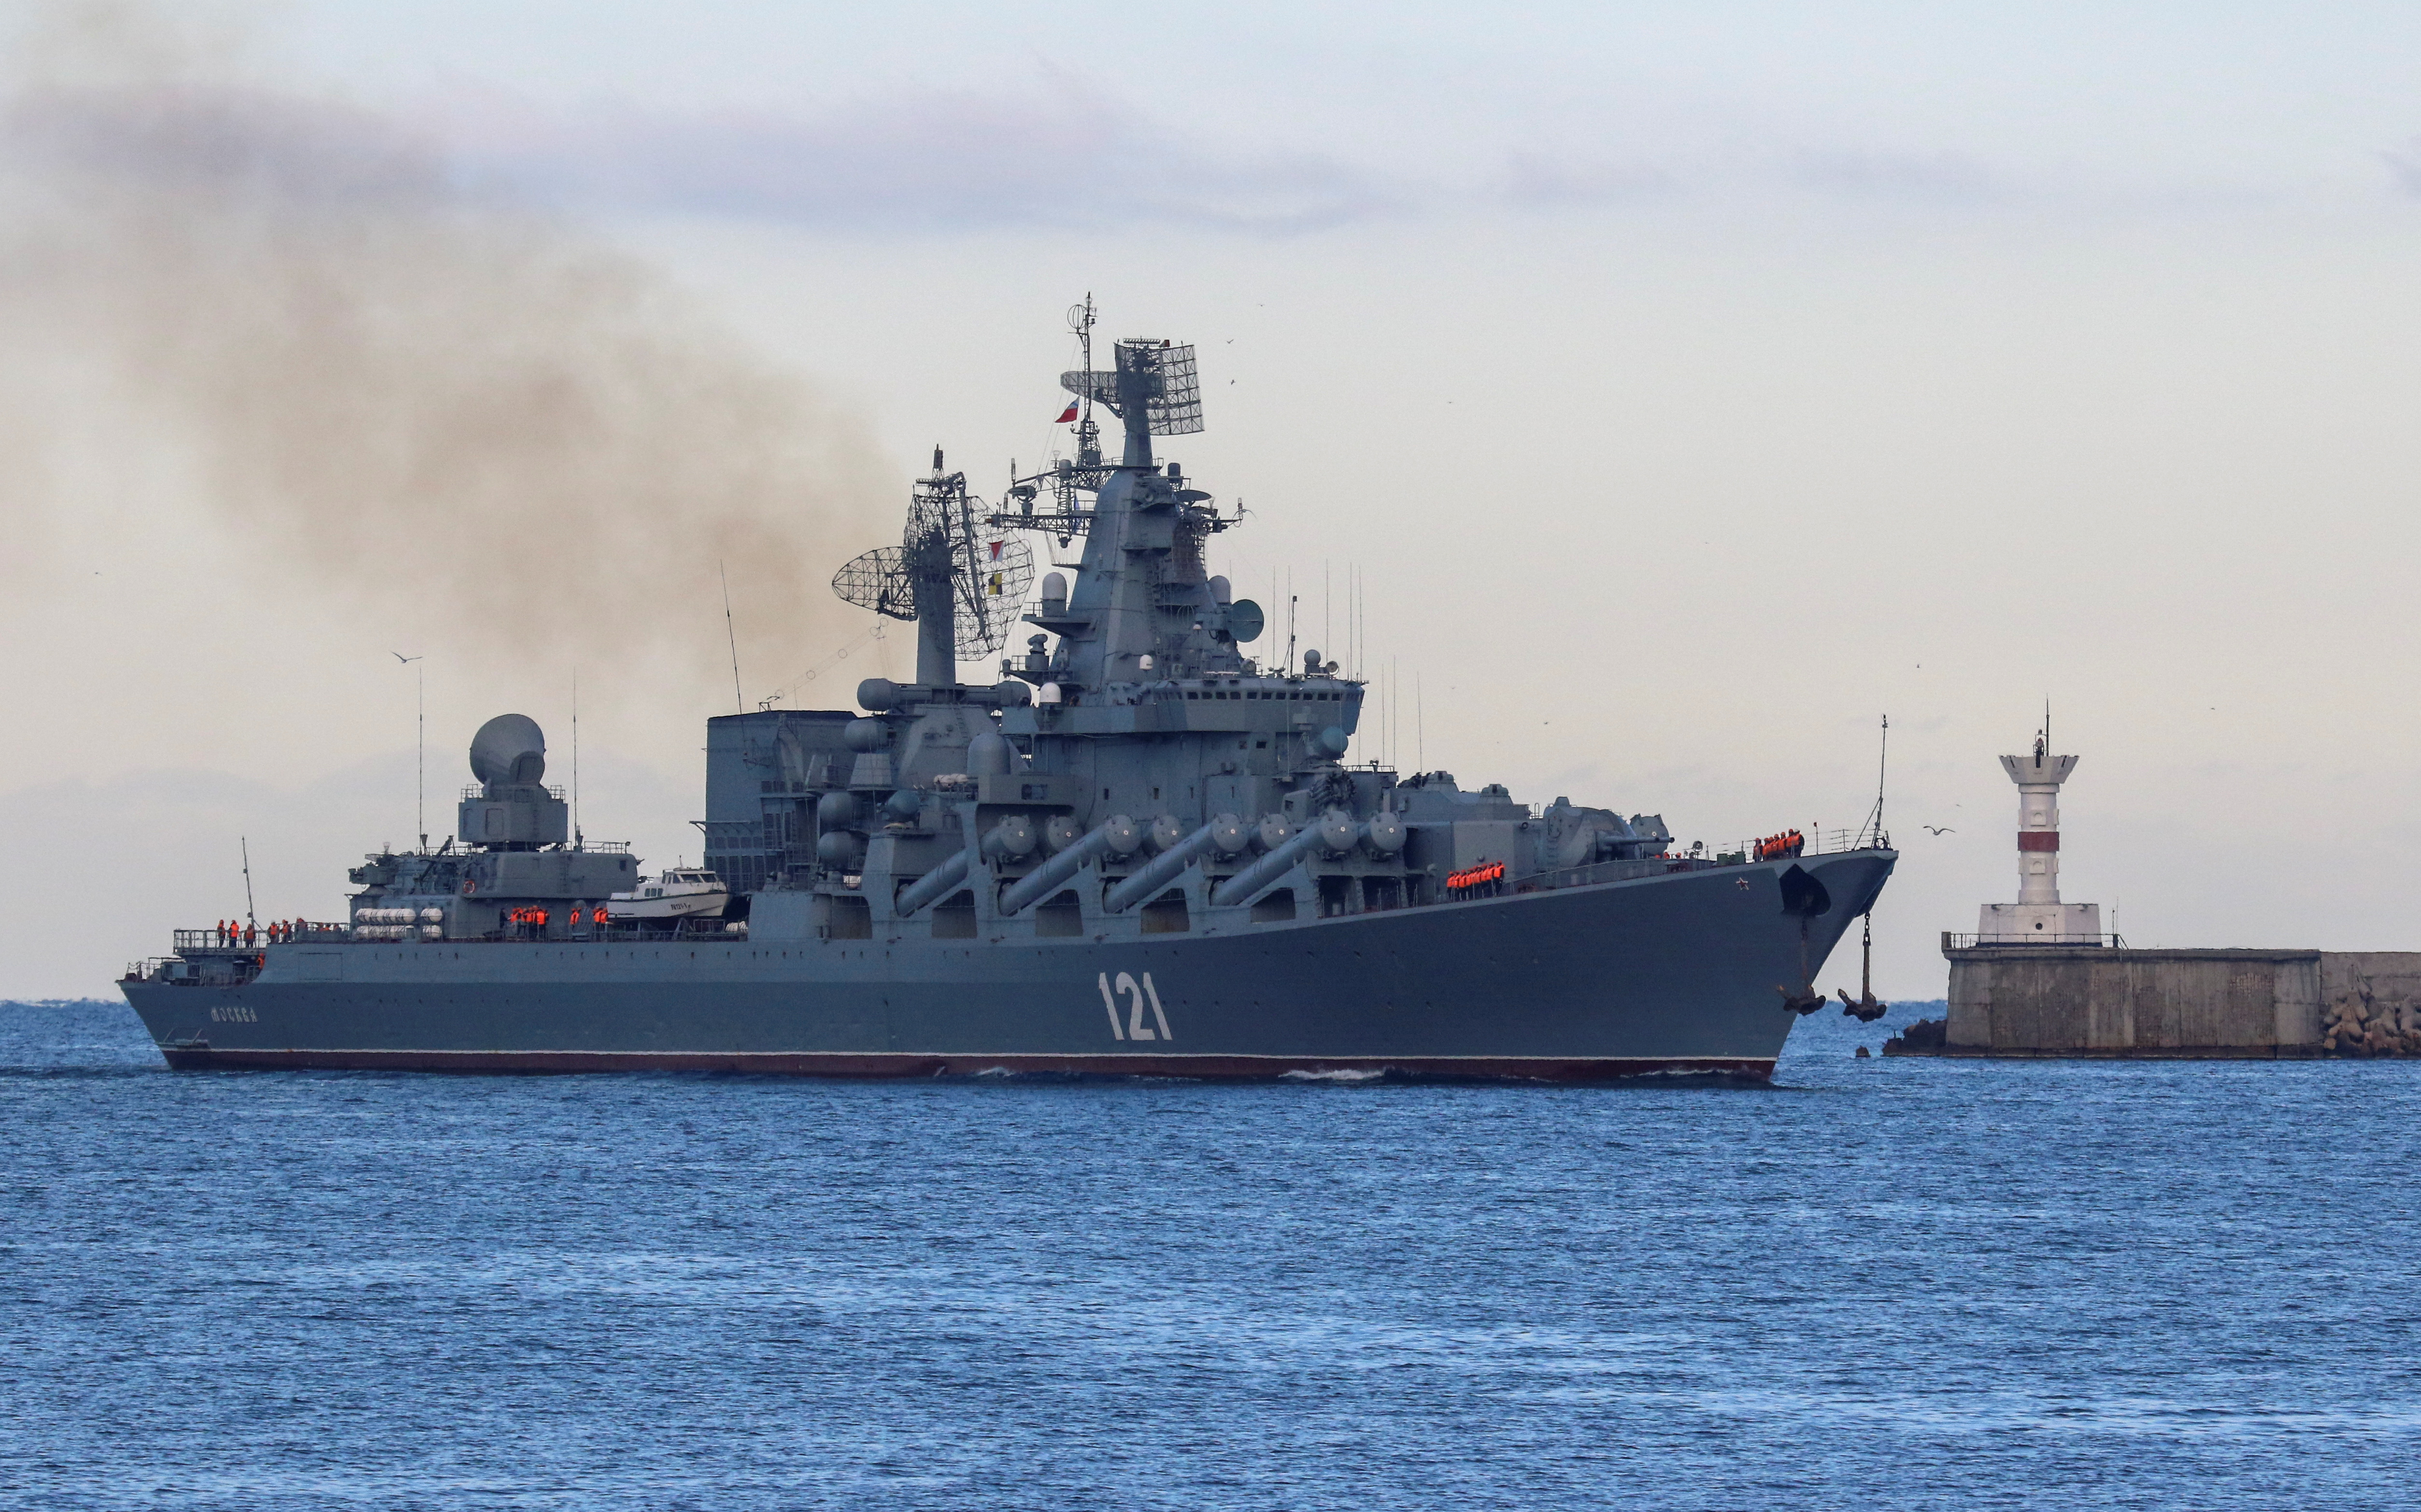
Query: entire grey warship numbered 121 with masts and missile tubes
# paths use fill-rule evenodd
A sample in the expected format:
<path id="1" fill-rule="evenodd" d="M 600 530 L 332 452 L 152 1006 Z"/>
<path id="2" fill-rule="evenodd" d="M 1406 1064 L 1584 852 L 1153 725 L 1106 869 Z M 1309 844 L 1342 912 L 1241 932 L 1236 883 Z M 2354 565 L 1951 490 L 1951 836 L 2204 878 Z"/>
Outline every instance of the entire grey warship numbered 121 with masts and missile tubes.
<path id="1" fill-rule="evenodd" d="M 1767 1079 L 1891 876 L 1881 803 L 1830 847 L 1709 854 L 1351 760 L 1365 682 L 1249 651 L 1276 627 L 1203 549 L 1242 508 L 1155 452 L 1203 428 L 1194 348 L 1094 368 L 1089 298 L 1070 327 L 1068 455 L 985 503 L 937 450 L 901 544 L 833 578 L 915 624 L 915 682 L 707 721 L 705 866 L 649 885 L 569 825 L 537 723 L 491 719 L 455 837 L 368 856 L 346 919 L 182 929 L 126 970 L 167 1064 Z M 1073 581 L 1034 590 L 1036 535 L 1082 539 Z"/>

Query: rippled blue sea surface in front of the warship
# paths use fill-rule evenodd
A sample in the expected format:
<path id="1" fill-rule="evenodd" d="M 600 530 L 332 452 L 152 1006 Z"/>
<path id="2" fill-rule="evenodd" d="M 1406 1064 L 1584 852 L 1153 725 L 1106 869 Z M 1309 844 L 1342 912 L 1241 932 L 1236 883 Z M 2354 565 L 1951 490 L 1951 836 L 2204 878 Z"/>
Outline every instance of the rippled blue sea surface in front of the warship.
<path id="1" fill-rule="evenodd" d="M 0 1006 L 0 1505 L 2409 1507 L 2421 1064 L 169 1074 Z"/>

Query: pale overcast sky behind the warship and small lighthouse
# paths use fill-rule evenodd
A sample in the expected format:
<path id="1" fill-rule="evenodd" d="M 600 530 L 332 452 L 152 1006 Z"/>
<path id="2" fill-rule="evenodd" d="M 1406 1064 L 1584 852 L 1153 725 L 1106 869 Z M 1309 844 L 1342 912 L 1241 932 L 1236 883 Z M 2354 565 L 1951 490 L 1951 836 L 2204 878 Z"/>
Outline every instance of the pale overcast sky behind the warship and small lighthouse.
<path id="1" fill-rule="evenodd" d="M 823 581 L 935 443 L 1046 452 L 1087 290 L 1201 344 L 1213 566 L 1339 653 L 1361 573 L 1356 760 L 1736 842 L 1857 825 L 1888 711 L 1939 997 L 2051 699 L 2130 941 L 2421 946 L 2414 7 L 10 19 L 0 992 L 237 912 L 245 835 L 337 917 L 392 651 L 436 832 L 576 673 L 583 827 L 695 856 L 717 569 L 748 702 L 905 673 Z"/>

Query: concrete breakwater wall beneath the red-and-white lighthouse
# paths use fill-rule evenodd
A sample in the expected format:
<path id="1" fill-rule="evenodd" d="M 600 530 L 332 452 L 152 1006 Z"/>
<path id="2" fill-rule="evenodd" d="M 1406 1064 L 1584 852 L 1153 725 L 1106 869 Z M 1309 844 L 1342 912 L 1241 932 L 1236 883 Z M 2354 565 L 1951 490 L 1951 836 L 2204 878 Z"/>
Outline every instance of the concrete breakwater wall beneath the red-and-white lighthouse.
<path id="1" fill-rule="evenodd" d="M 1949 1016 L 1884 1055 L 2421 1055 L 2421 951 L 1954 946 Z"/>

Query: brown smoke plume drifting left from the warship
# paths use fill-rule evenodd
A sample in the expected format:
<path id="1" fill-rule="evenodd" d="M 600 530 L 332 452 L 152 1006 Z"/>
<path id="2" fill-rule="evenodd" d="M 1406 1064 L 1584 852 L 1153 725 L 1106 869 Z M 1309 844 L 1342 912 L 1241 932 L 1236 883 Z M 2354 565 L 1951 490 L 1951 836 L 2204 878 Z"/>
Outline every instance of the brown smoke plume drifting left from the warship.
<path id="1" fill-rule="evenodd" d="M 898 527 L 872 440 L 632 256 L 467 191 L 392 121 L 138 5 L 46 12 L 0 97 L 0 368 L 182 457 L 259 566 L 458 653 L 644 658 L 763 692 L 857 631 Z M 19 552 L 75 508 L 19 426 Z M 22 460 L 22 464 L 15 464 Z"/>

